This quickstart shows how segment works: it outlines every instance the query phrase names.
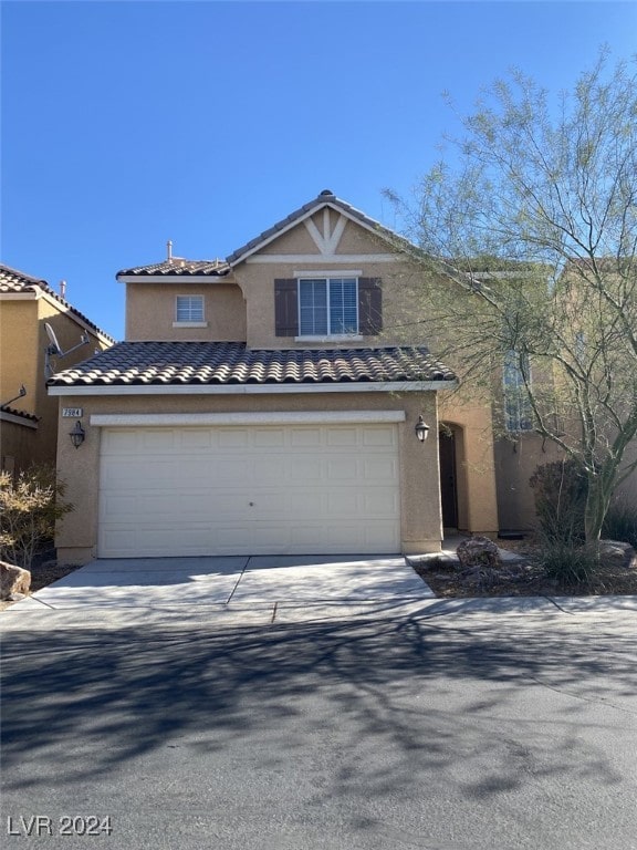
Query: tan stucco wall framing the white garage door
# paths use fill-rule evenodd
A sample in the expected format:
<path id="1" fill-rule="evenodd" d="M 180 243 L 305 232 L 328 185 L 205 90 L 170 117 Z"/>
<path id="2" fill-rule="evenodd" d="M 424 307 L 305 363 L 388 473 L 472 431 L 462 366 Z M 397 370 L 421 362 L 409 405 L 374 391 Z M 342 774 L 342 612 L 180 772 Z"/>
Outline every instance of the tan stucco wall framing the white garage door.
<path id="1" fill-rule="evenodd" d="M 227 413 L 281 411 L 405 411 L 406 421 L 398 425 L 401 490 L 401 541 L 405 552 L 437 551 L 442 535 L 436 394 L 405 393 L 326 393 L 293 395 L 209 395 L 209 396 L 64 396 L 61 406 L 84 408 L 86 440 L 75 449 L 63 433 L 59 439 L 59 467 L 67 486 L 67 498 L 75 510 L 59 529 L 56 546 L 60 558 L 86 562 L 95 557 L 97 545 L 97 486 L 100 476 L 101 428 L 88 425 L 96 413 Z M 431 423 L 431 437 L 419 443 L 414 432 L 418 415 Z M 63 429 L 62 429 L 63 431 Z"/>

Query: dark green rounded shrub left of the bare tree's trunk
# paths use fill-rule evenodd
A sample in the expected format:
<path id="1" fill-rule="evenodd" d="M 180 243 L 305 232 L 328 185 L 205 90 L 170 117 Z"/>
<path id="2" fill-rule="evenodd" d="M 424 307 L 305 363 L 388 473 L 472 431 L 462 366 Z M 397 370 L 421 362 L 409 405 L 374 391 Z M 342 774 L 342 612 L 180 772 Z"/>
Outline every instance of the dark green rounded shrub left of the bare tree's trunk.
<path id="1" fill-rule="evenodd" d="M 539 466 L 529 479 L 535 499 L 540 535 L 566 547 L 585 539 L 584 510 L 588 485 L 573 460 Z"/>

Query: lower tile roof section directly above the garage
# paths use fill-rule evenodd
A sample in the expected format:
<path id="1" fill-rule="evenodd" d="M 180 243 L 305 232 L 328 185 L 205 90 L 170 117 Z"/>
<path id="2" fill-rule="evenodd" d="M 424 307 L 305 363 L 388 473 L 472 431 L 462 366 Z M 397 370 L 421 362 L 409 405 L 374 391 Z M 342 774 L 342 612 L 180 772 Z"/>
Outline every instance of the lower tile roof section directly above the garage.
<path id="1" fill-rule="evenodd" d="M 426 348 L 252 350 L 242 342 L 119 342 L 49 386 L 453 381 Z"/>

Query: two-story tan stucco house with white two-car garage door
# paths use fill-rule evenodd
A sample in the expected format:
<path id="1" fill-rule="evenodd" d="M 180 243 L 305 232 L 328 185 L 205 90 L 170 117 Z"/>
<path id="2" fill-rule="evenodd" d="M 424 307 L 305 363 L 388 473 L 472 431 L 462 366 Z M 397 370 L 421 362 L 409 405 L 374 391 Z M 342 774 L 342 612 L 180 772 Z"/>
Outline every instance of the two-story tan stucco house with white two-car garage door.
<path id="1" fill-rule="evenodd" d="M 226 260 L 169 248 L 118 272 L 126 340 L 49 381 L 85 432 L 79 448 L 60 432 L 75 510 L 59 557 L 417 553 L 443 524 L 497 535 L 490 410 L 449 397 L 453 372 L 405 342 L 396 238 L 325 190 Z"/>

